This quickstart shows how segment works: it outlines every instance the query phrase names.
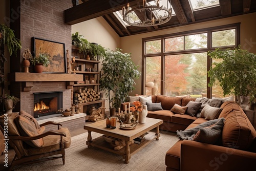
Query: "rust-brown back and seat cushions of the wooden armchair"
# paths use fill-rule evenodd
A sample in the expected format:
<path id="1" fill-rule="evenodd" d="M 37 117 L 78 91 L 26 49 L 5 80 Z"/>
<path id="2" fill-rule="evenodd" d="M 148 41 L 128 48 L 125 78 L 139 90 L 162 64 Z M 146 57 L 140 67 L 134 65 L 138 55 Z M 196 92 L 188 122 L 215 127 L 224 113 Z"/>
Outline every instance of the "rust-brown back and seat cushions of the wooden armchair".
<path id="1" fill-rule="evenodd" d="M 19 129 L 20 135 L 24 137 L 32 137 L 39 135 L 33 120 L 28 119 L 26 116 L 17 116 L 15 118 L 15 122 Z M 42 147 L 42 145 L 44 145 L 44 141 L 42 140 L 42 138 L 25 142 L 35 148 Z"/>

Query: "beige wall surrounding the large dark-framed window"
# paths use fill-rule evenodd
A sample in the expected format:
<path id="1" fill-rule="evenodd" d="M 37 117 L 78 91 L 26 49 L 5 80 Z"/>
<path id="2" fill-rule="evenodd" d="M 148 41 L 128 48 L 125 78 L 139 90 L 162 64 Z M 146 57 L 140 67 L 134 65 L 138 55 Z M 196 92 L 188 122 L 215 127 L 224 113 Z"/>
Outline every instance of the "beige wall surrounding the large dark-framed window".
<path id="1" fill-rule="evenodd" d="M 141 71 L 141 63 L 142 63 L 142 38 L 152 37 L 157 35 L 165 35 L 172 34 L 183 31 L 190 31 L 208 27 L 215 27 L 233 23 L 241 23 L 241 48 L 247 49 L 251 53 L 256 53 L 256 13 L 233 16 L 224 19 L 212 20 L 210 22 L 191 24 L 176 28 L 164 29 L 160 31 L 154 31 L 150 33 L 137 34 L 133 36 L 126 36 L 120 38 L 120 48 L 123 49 L 124 53 L 132 53 L 132 59 L 139 65 L 139 70 Z M 131 93 L 131 95 L 141 94 L 141 77 L 138 80 L 135 80 L 136 90 Z"/>

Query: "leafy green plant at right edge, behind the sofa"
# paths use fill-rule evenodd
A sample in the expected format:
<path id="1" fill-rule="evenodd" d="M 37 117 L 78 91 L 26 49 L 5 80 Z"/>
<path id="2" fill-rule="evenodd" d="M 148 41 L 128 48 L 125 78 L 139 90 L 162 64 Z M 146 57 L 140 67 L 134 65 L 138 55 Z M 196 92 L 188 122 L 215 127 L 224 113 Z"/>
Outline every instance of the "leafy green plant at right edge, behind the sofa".
<path id="1" fill-rule="evenodd" d="M 218 80 L 224 96 L 236 95 L 241 107 L 248 109 L 256 95 L 256 55 L 241 49 L 240 46 L 234 50 L 216 49 L 209 51 L 208 55 L 222 59 L 219 63 L 212 63 L 208 71 L 208 86 L 212 87 Z"/>

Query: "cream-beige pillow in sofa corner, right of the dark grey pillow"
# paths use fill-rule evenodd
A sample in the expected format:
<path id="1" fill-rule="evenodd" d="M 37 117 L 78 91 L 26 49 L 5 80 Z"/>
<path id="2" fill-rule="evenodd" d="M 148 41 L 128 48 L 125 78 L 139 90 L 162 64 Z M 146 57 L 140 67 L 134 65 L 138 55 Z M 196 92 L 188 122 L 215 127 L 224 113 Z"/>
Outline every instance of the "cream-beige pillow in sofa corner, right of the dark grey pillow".
<path id="1" fill-rule="evenodd" d="M 200 117 L 207 120 L 217 119 L 221 111 L 222 111 L 222 108 L 215 108 L 206 104 L 200 114 Z"/>

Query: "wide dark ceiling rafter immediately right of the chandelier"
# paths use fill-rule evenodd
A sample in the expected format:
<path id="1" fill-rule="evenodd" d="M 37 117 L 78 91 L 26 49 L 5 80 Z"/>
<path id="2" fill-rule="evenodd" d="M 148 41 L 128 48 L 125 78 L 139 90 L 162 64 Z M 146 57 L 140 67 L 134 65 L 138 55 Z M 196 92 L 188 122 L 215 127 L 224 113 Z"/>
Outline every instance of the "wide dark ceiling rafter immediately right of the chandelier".
<path id="1" fill-rule="evenodd" d="M 168 0 L 170 1 L 170 0 Z M 172 0 L 172 6 L 180 24 L 187 24 L 187 17 L 179 0 Z"/>

